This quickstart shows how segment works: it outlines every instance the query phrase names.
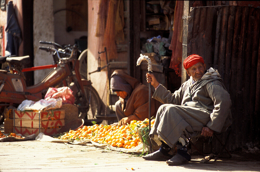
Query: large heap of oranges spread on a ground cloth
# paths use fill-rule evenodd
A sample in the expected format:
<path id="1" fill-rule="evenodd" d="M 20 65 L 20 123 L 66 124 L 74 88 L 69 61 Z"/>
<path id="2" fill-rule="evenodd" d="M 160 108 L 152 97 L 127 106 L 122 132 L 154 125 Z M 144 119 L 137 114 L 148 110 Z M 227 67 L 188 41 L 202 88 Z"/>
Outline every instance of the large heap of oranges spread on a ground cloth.
<path id="1" fill-rule="evenodd" d="M 154 119 L 151 120 L 151 127 Z M 118 148 L 131 149 L 141 144 L 138 135 L 139 128 L 149 126 L 149 119 L 143 121 L 132 120 L 129 125 L 97 125 L 83 126 L 77 130 L 70 130 L 60 137 L 63 140 L 90 139 L 94 142 L 109 144 Z"/>

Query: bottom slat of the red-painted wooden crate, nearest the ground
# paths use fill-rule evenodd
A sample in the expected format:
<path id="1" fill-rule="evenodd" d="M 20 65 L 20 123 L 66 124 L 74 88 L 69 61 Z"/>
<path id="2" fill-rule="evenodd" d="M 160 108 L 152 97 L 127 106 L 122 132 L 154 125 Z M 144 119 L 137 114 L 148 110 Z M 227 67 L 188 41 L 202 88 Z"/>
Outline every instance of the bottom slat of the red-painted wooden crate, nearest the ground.
<path id="1" fill-rule="evenodd" d="M 39 128 L 25 128 L 25 127 L 14 127 L 14 132 L 16 134 L 21 134 L 23 136 L 29 136 L 35 134 L 38 136 L 40 132 L 44 133 L 45 135 L 52 136 L 58 133 L 60 128 L 52 128 L 52 129 L 39 129 Z"/>

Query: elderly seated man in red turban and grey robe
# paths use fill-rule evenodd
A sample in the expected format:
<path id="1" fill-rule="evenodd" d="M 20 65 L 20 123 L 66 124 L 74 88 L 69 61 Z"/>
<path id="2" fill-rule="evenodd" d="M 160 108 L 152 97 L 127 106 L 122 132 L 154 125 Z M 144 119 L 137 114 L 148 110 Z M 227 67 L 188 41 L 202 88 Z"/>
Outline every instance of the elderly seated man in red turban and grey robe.
<path id="1" fill-rule="evenodd" d="M 198 135 L 212 136 L 221 133 L 232 123 L 231 100 L 217 70 L 205 71 L 206 64 L 197 54 L 188 56 L 183 63 L 190 79 L 173 94 L 159 84 L 153 74 L 146 74 L 155 92 L 153 98 L 161 105 L 155 123 L 149 133 L 152 143 L 160 146 L 158 151 L 143 156 L 145 160 L 163 161 L 179 165 L 188 163 L 187 139 Z M 177 144 L 177 154 L 169 154 Z"/>

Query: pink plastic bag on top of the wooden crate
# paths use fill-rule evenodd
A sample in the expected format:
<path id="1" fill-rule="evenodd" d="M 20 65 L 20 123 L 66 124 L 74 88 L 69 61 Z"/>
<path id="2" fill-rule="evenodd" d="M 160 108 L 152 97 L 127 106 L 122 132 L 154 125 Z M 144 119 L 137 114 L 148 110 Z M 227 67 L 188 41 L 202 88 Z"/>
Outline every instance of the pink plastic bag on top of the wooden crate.
<path id="1" fill-rule="evenodd" d="M 75 97 L 72 94 L 73 91 L 69 87 L 60 87 L 60 88 L 53 88 L 50 87 L 44 97 L 45 100 L 48 100 L 50 98 L 62 98 L 62 103 L 69 103 L 74 104 Z"/>

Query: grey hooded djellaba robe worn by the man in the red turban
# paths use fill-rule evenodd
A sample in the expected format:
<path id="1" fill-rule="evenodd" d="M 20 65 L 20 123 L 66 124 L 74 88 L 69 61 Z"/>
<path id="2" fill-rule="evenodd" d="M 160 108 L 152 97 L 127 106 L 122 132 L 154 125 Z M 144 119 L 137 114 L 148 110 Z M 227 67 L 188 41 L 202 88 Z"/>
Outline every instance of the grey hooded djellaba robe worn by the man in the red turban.
<path id="1" fill-rule="evenodd" d="M 194 84 L 190 78 L 173 94 L 160 85 L 153 98 L 164 104 L 149 133 L 159 145 L 158 139 L 173 147 L 179 138 L 186 141 L 199 135 L 204 126 L 221 133 L 232 124 L 230 95 L 213 68 Z"/>

